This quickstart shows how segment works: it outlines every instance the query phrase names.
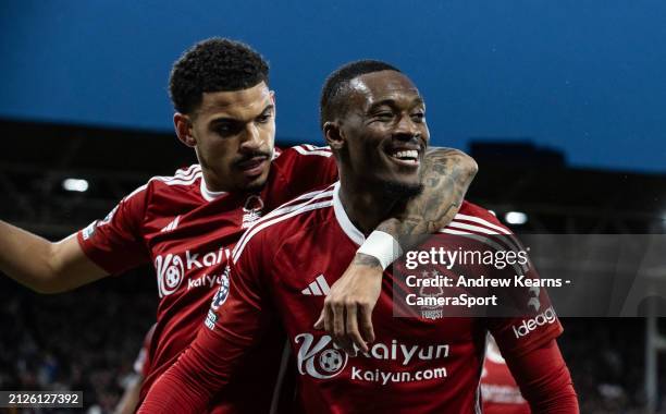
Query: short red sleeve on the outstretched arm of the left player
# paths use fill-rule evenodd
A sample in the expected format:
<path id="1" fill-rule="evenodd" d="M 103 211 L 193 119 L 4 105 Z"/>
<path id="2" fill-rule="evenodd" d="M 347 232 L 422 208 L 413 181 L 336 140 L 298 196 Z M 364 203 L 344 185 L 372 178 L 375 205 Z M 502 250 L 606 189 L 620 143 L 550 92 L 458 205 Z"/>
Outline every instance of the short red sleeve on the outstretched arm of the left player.
<path id="1" fill-rule="evenodd" d="M 150 184 L 123 198 L 103 220 L 96 220 L 76 238 L 86 256 L 115 275 L 150 260 L 141 238 Z"/>

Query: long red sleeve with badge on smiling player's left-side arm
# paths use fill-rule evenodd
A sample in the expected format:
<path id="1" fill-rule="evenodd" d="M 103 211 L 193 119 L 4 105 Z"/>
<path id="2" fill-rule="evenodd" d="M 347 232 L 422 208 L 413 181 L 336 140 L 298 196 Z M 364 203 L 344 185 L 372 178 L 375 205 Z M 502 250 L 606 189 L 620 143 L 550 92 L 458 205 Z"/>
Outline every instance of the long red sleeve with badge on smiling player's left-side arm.
<path id="1" fill-rule="evenodd" d="M 150 388 L 139 413 L 200 413 L 230 382 L 244 357 L 270 330 L 274 312 L 260 281 L 259 239 L 232 265 L 230 285 L 220 285 L 197 338 Z M 270 263 L 270 261 L 269 261 Z M 223 306 L 222 306 L 223 305 Z"/>

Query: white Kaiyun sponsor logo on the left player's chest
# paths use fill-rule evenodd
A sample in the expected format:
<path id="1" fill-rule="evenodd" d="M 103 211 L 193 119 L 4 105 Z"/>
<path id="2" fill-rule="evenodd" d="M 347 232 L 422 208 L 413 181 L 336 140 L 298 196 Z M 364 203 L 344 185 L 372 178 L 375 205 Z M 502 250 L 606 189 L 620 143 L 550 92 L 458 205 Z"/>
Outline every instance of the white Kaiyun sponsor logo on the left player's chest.
<path id="1" fill-rule="evenodd" d="M 173 294 L 178 290 L 188 271 L 206 269 L 220 266 L 231 256 L 229 248 L 220 248 L 217 252 L 192 253 L 186 251 L 184 255 L 166 254 L 155 258 L 155 268 L 158 277 L 158 291 L 160 297 Z M 203 273 L 197 278 L 187 280 L 187 290 L 195 288 L 213 288 L 215 284 L 229 283 L 229 269 L 223 275 Z"/>

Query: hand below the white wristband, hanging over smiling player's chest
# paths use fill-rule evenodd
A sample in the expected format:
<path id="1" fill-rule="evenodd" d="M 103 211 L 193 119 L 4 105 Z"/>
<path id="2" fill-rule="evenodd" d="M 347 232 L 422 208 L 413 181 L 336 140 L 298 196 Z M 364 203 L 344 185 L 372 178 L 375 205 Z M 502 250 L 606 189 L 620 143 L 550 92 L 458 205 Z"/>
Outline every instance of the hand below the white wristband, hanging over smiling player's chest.
<path id="1" fill-rule="evenodd" d="M 356 350 L 368 352 L 368 343 L 374 342 L 372 309 L 382 291 L 382 273 L 377 258 L 357 253 L 331 287 L 314 324 L 314 329 L 324 329 L 350 355 Z"/>

